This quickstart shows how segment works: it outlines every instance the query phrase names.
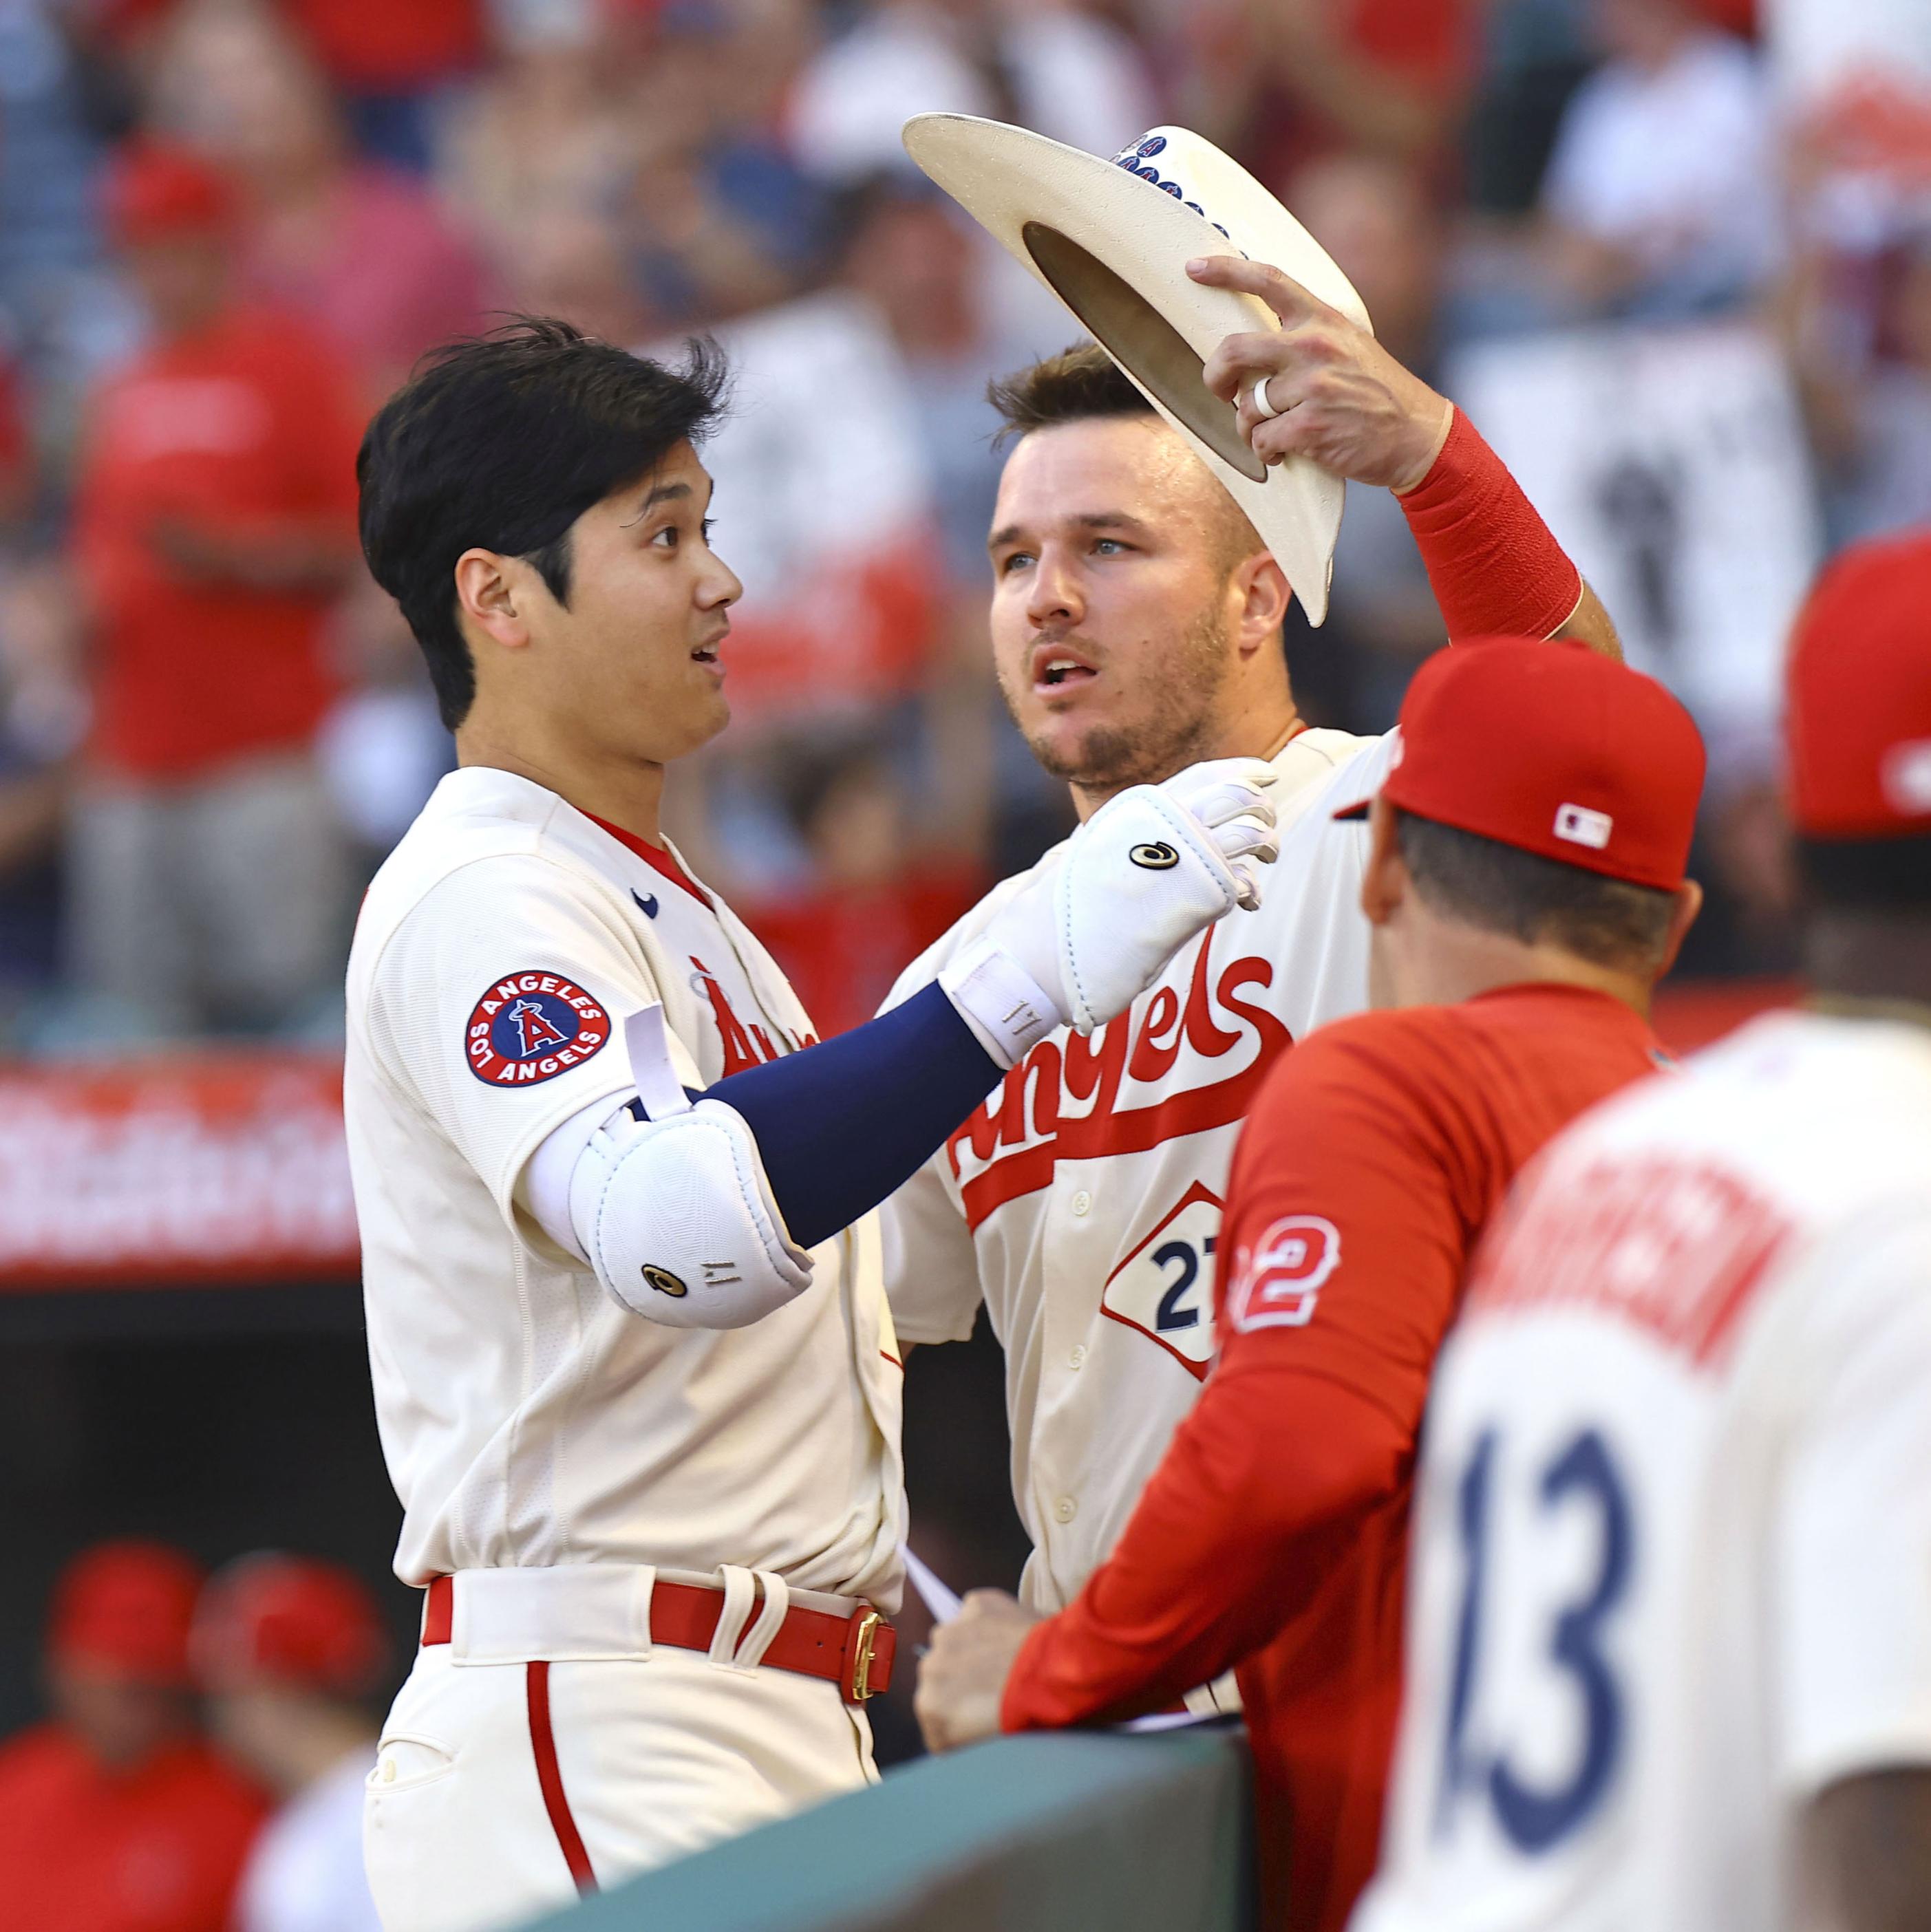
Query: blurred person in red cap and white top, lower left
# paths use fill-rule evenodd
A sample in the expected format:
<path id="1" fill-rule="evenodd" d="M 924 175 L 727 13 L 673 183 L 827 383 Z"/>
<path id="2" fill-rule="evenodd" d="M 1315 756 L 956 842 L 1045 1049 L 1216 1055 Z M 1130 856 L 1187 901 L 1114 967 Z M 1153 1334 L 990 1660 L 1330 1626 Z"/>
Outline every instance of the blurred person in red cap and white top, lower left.
<path id="1" fill-rule="evenodd" d="M 201 1594 L 193 1660 L 216 1743 L 280 1801 L 249 1853 L 236 1932 L 381 1932 L 361 1787 L 390 1660 L 367 1584 L 319 1557 L 238 1557 Z"/>

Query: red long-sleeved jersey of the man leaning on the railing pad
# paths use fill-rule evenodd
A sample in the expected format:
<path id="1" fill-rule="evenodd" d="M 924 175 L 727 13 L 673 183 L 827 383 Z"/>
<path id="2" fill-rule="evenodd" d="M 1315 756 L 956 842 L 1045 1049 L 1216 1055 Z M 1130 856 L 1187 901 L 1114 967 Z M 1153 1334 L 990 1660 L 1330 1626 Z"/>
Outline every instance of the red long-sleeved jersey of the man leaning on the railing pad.
<path id="1" fill-rule="evenodd" d="M 1270 1926 L 1340 1932 L 1374 1870 L 1415 1443 L 1475 1240 L 1546 1140 L 1660 1061 L 1629 1007 L 1539 981 L 1336 1020 L 1254 1103 L 1214 1372 L 1001 1721 L 1127 1718 L 1239 1665 Z"/>

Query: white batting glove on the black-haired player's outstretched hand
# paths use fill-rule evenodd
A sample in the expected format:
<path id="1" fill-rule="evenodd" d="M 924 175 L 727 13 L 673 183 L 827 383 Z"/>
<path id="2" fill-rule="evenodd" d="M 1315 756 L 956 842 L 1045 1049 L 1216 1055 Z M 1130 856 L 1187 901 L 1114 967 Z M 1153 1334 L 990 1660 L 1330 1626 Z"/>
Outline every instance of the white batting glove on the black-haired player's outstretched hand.
<path id="1" fill-rule="evenodd" d="M 1059 1026 L 1090 1034 L 1235 906 L 1260 904 L 1272 864 L 1274 769 L 1224 757 L 1108 800 L 1059 867 L 1015 893 L 939 985 L 1003 1065 Z"/>

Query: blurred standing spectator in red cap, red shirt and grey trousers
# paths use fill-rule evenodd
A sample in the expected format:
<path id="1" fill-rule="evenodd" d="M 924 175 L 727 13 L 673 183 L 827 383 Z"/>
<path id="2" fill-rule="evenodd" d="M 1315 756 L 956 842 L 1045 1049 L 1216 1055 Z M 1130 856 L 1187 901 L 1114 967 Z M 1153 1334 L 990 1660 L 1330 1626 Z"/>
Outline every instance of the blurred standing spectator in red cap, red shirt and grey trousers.
<path id="1" fill-rule="evenodd" d="M 95 721 L 70 840 L 81 980 L 166 1030 L 296 1022 L 336 978 L 342 837 L 315 773 L 325 622 L 356 562 L 336 355 L 230 294 L 220 178 L 114 166 L 155 340 L 93 398 L 75 551 Z"/>

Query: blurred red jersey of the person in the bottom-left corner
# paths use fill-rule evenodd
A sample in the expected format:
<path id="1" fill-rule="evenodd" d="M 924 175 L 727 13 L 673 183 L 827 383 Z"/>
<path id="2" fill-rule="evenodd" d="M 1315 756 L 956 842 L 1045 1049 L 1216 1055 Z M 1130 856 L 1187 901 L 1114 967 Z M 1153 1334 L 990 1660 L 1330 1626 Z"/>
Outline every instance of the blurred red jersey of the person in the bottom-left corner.
<path id="1" fill-rule="evenodd" d="M 102 1770 L 44 1723 L 0 1745 L 0 1917 L 48 1932 L 226 1932 L 267 1803 L 199 1739 Z"/>

